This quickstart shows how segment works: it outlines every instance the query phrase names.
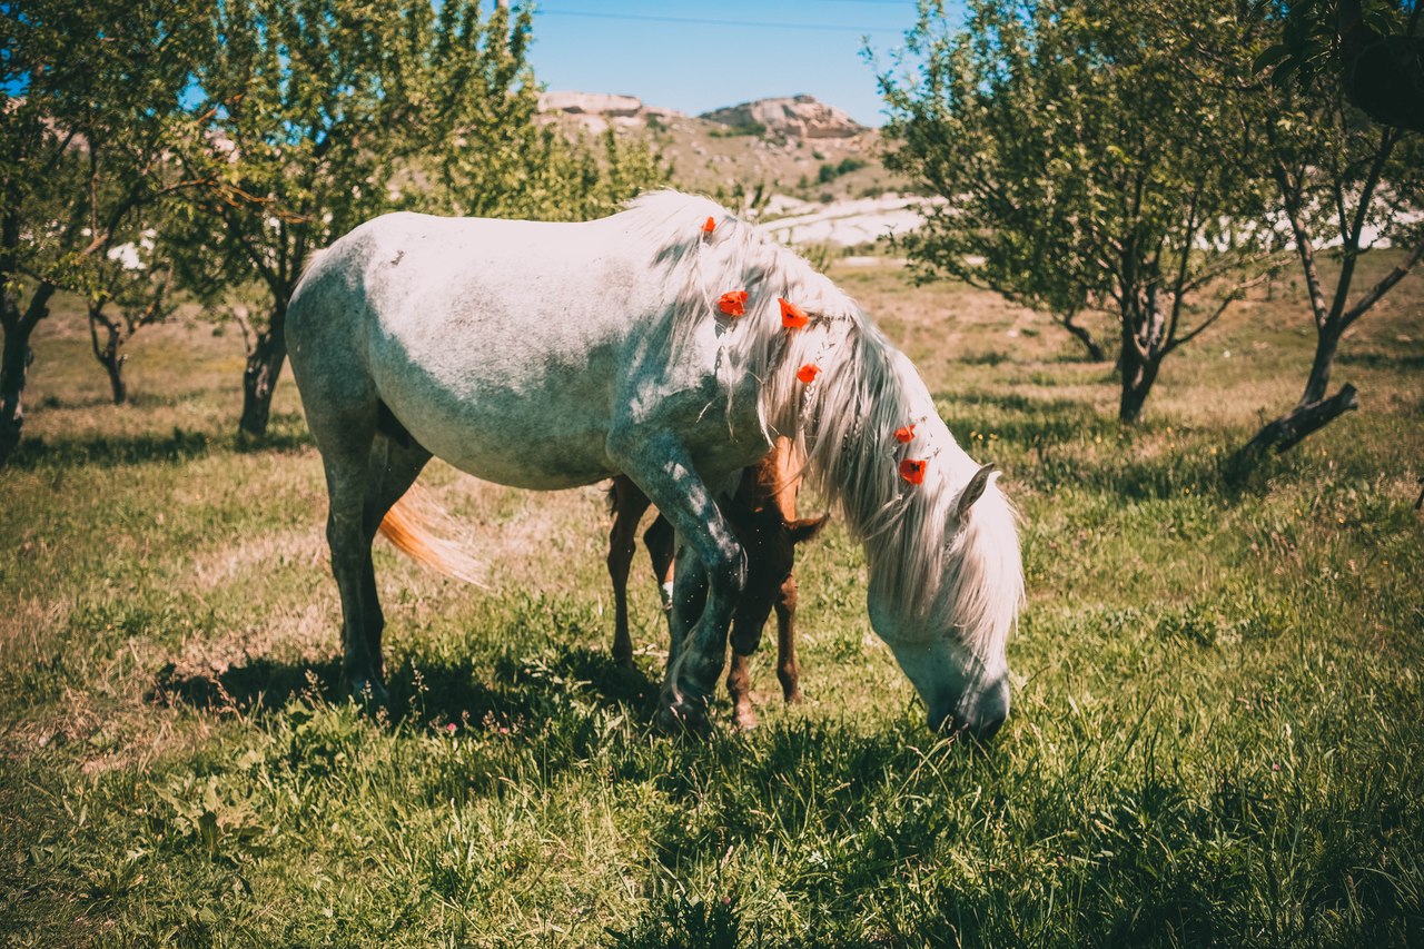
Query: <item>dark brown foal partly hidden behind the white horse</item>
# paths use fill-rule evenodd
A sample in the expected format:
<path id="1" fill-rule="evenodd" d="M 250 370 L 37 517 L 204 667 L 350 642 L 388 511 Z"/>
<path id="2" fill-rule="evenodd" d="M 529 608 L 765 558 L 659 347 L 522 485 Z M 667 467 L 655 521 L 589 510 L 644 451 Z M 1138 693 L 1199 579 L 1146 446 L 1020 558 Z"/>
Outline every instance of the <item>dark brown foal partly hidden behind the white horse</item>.
<path id="1" fill-rule="evenodd" d="M 802 460 L 793 457 L 789 439 L 778 439 L 770 453 L 742 472 L 736 494 L 722 503 L 746 551 L 746 587 L 732 618 L 732 667 L 726 690 L 732 694 L 736 724 L 756 725 L 752 712 L 748 657 L 762 641 L 762 628 L 776 610 L 776 677 L 787 702 L 800 701 L 800 667 L 796 663 L 796 544 L 810 540 L 830 514 L 796 519 Z M 651 502 L 628 477 L 615 477 L 608 490 L 614 524 L 608 533 L 608 574 L 614 581 L 614 658 L 632 663 L 628 636 L 628 567 L 637 547 L 638 522 Z M 652 559 L 652 573 L 661 584 L 662 608 L 672 608 L 672 559 L 676 553 L 672 526 L 658 516 L 642 536 Z"/>

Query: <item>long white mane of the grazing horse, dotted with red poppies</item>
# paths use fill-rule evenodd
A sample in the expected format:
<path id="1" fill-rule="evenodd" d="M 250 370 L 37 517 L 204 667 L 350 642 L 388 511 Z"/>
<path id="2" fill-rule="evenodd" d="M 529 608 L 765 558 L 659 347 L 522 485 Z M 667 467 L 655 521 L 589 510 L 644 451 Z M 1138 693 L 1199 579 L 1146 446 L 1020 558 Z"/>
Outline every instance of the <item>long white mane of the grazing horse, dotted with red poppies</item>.
<path id="1" fill-rule="evenodd" d="M 880 593 L 911 613 L 948 594 L 965 644 L 993 654 L 1022 597 L 1014 513 L 990 484 L 965 529 L 946 536 L 951 506 L 977 466 L 944 427 L 910 361 L 810 264 L 708 198 L 656 191 L 621 217 L 656 248 L 655 266 L 674 294 L 672 346 L 716 313 L 723 292 L 748 292 L 745 316 L 715 316 L 726 331 L 722 379 L 750 373 L 760 380 L 765 435 L 797 442 L 813 484 L 866 543 Z M 709 217 L 708 235 L 699 225 Z M 812 323 L 785 329 L 778 298 Z M 797 379 L 809 363 L 820 368 L 812 385 Z M 900 445 L 894 430 L 910 423 L 920 426 L 917 437 Z M 923 484 L 900 477 L 904 457 L 930 460 Z M 946 584 L 951 588 L 941 590 Z"/>

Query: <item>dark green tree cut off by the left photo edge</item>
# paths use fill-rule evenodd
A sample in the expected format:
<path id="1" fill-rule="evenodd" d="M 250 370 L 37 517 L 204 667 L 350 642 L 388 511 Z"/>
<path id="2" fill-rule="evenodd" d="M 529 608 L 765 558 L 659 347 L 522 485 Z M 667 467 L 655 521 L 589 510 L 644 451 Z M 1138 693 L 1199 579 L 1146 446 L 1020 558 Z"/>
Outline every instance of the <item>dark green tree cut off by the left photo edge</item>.
<path id="1" fill-rule="evenodd" d="M 192 185 L 169 161 L 192 64 L 194 0 L 10 4 L 0 33 L 0 465 L 24 425 L 30 336 L 60 289 L 91 296 L 134 215 Z"/>

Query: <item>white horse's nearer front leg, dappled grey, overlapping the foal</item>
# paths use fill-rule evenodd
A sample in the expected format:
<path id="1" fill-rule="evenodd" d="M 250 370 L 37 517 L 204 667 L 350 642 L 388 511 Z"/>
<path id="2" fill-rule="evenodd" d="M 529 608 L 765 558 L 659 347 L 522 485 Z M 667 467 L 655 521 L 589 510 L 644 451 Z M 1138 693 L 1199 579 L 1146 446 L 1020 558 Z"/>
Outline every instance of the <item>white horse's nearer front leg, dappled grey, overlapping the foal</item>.
<path id="1" fill-rule="evenodd" d="M 728 627 L 746 583 L 742 547 L 679 439 L 671 433 L 609 439 L 609 449 L 672 523 L 682 544 L 658 722 L 706 731 L 708 700 L 726 664 Z"/>

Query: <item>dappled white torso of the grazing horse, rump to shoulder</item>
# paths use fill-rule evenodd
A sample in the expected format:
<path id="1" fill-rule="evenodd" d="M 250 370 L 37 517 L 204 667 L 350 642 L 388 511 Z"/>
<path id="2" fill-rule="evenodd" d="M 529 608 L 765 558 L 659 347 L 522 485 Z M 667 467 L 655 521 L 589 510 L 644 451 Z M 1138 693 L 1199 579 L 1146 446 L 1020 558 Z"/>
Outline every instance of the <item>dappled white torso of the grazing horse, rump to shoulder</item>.
<path id="1" fill-rule="evenodd" d="M 303 278 L 288 316 L 313 433 L 313 416 L 380 402 L 477 477 L 564 487 L 615 473 L 607 439 L 629 412 L 665 412 L 674 392 L 702 393 L 695 412 L 713 398 L 711 322 L 675 365 L 649 356 L 672 305 L 656 249 L 624 215 L 392 214 L 356 228 Z"/>

